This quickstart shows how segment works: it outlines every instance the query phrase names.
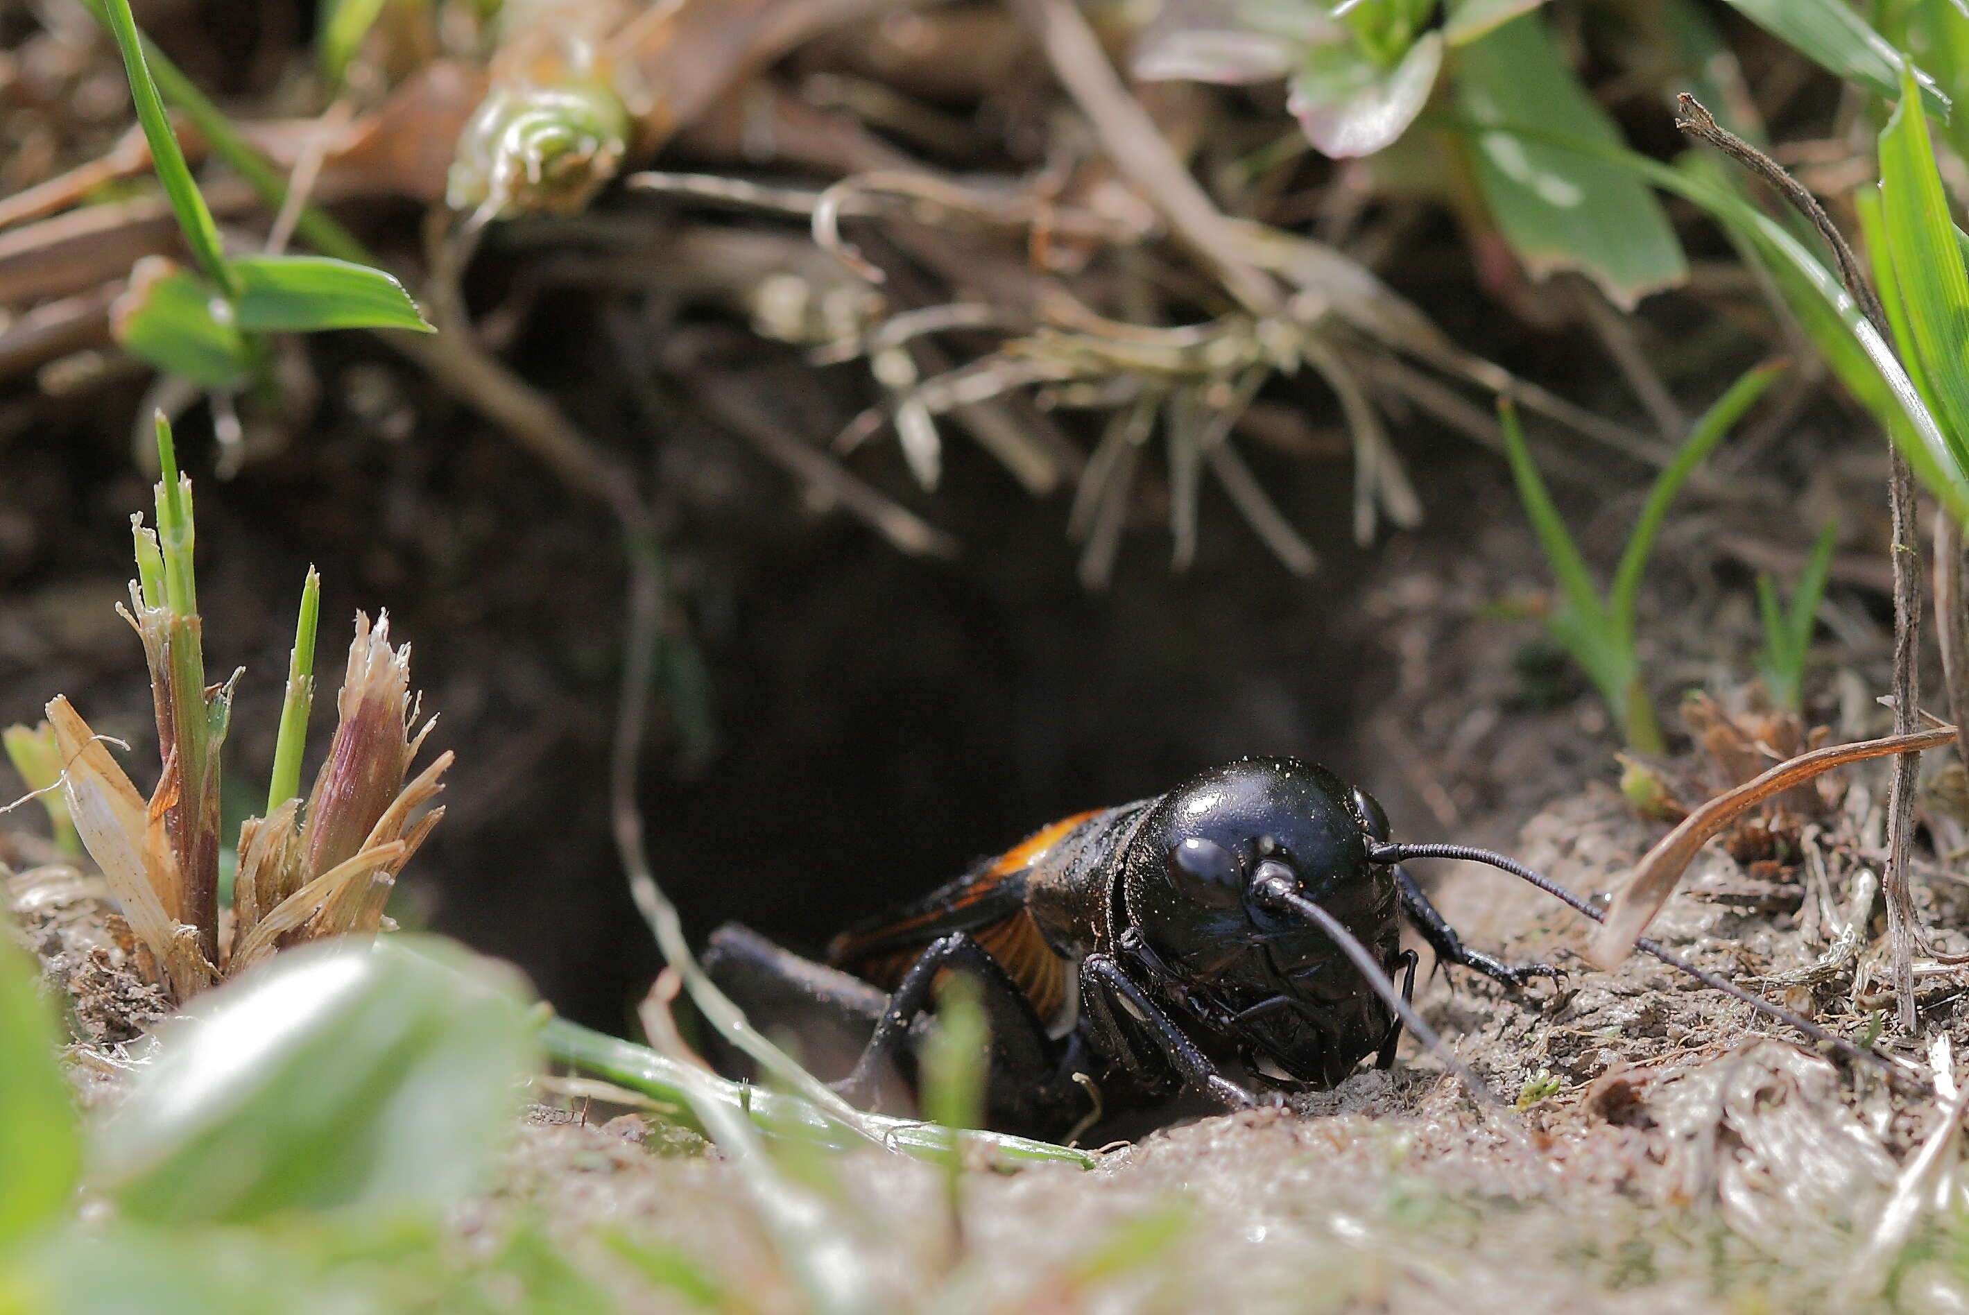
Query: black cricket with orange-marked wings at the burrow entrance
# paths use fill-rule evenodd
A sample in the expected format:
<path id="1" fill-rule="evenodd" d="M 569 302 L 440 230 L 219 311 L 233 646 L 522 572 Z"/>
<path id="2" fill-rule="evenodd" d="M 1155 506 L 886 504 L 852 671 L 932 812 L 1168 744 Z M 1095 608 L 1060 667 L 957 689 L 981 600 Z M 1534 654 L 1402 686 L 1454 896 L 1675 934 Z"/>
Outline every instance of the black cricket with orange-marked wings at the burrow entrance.
<path id="1" fill-rule="evenodd" d="M 1170 793 L 1053 823 L 890 917 L 829 945 L 829 967 L 725 925 L 703 957 L 762 1020 L 860 1043 L 841 1083 L 868 1102 L 914 1063 L 947 971 L 977 978 L 990 1024 L 994 1126 L 1061 1134 L 1193 1089 L 1231 1108 L 1333 1087 L 1394 1061 L 1416 955 L 1508 986 L 1559 976 L 1463 945 L 1400 866 L 1366 791 L 1294 758 L 1244 758 Z M 1400 996 L 1392 978 L 1402 976 Z"/>

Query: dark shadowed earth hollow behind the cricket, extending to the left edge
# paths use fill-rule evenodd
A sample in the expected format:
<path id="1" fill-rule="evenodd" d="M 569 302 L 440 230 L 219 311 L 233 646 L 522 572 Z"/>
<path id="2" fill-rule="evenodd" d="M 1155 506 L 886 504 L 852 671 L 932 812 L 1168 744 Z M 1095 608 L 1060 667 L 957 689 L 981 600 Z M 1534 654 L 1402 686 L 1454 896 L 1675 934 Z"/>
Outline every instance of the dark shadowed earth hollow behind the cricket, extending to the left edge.
<path id="1" fill-rule="evenodd" d="M 1199 559 L 1172 575 L 1144 482 L 1114 585 L 1089 596 L 1063 535 L 1065 492 L 1034 502 L 951 427 L 935 496 L 908 484 L 892 439 L 855 461 L 963 539 L 955 563 L 912 561 L 841 516 L 815 518 L 776 467 L 687 404 L 650 417 L 626 388 L 597 386 L 616 376 L 595 319 L 555 299 L 536 321 L 551 333 L 526 335 L 514 354 L 593 433 L 654 461 L 723 740 L 697 780 L 669 770 L 673 736 L 652 736 L 646 762 L 658 874 L 699 941 L 738 919 L 817 951 L 1055 817 L 1239 754 L 1302 754 L 1382 789 L 1386 754 L 1353 736 L 1392 687 L 1392 654 L 1361 589 L 1390 553 L 1449 563 L 1479 524 L 1514 514 L 1502 463 L 1412 423 L 1402 459 L 1429 520 L 1410 535 L 1384 528 L 1363 551 L 1351 461 L 1244 443 L 1321 553 L 1309 581 L 1209 482 Z M 262 801 L 291 598 L 313 561 L 327 593 L 309 770 L 358 606 L 388 606 L 396 638 L 413 642 L 415 685 L 441 715 L 431 746 L 459 752 L 451 815 L 406 880 L 404 919 L 520 963 L 577 1020 L 622 1026 L 656 955 L 608 843 L 624 593 L 612 526 L 394 358 L 349 337 L 313 352 L 319 415 L 240 478 L 213 478 L 207 425 L 183 425 L 209 669 L 248 667 L 228 750 L 240 813 Z M 746 341 L 742 364 L 803 437 L 866 402 L 858 374 L 815 372 L 788 348 Z M 1276 392 L 1309 406 L 1305 390 Z M 132 740 L 132 776 L 148 787 L 142 659 L 108 610 L 128 579 L 128 514 L 150 496 L 128 431 L 104 417 L 138 404 L 122 388 L 49 406 L 6 453 L 0 719 L 33 720 L 67 693 L 98 730 Z M 1160 463 L 1158 439 L 1144 461 L 1158 480 Z M 1396 825 L 1431 823 L 1398 811 Z"/>

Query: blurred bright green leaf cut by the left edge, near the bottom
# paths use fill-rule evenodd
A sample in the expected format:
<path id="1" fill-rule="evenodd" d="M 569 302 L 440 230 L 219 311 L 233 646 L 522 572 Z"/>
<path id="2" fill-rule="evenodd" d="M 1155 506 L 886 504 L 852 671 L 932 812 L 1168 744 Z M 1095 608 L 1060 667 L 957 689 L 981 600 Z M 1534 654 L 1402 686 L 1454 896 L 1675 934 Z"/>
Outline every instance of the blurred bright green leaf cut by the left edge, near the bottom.
<path id="1" fill-rule="evenodd" d="M 0 1254 L 67 1215 L 81 1163 L 55 1020 L 33 980 L 0 933 Z"/>

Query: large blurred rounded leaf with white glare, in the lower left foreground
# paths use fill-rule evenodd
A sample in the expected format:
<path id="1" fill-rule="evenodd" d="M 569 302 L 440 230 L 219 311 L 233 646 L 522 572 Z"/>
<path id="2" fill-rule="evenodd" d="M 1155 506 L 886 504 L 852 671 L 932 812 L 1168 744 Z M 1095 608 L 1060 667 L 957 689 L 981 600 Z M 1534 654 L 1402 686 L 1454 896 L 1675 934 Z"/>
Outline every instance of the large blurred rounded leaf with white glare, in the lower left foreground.
<path id="1" fill-rule="evenodd" d="M 95 1148 L 130 1219 L 457 1201 L 534 1069 L 514 974 L 435 939 L 282 951 L 187 1014 Z"/>

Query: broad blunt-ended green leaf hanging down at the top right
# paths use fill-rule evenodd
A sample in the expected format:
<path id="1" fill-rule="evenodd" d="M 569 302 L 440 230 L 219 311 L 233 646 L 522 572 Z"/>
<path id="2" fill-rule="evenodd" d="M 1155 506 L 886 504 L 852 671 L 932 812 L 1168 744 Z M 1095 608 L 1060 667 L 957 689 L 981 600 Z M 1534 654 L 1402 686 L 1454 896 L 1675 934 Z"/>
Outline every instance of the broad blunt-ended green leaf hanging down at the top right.
<path id="1" fill-rule="evenodd" d="M 1607 148 L 1620 132 L 1554 51 L 1538 14 L 1463 47 L 1455 69 L 1477 185 L 1504 240 L 1534 278 L 1579 270 L 1617 305 L 1687 278 L 1682 246 L 1654 193 L 1581 152 L 1552 150 L 1512 124 L 1565 124 L 1569 138 Z"/>

